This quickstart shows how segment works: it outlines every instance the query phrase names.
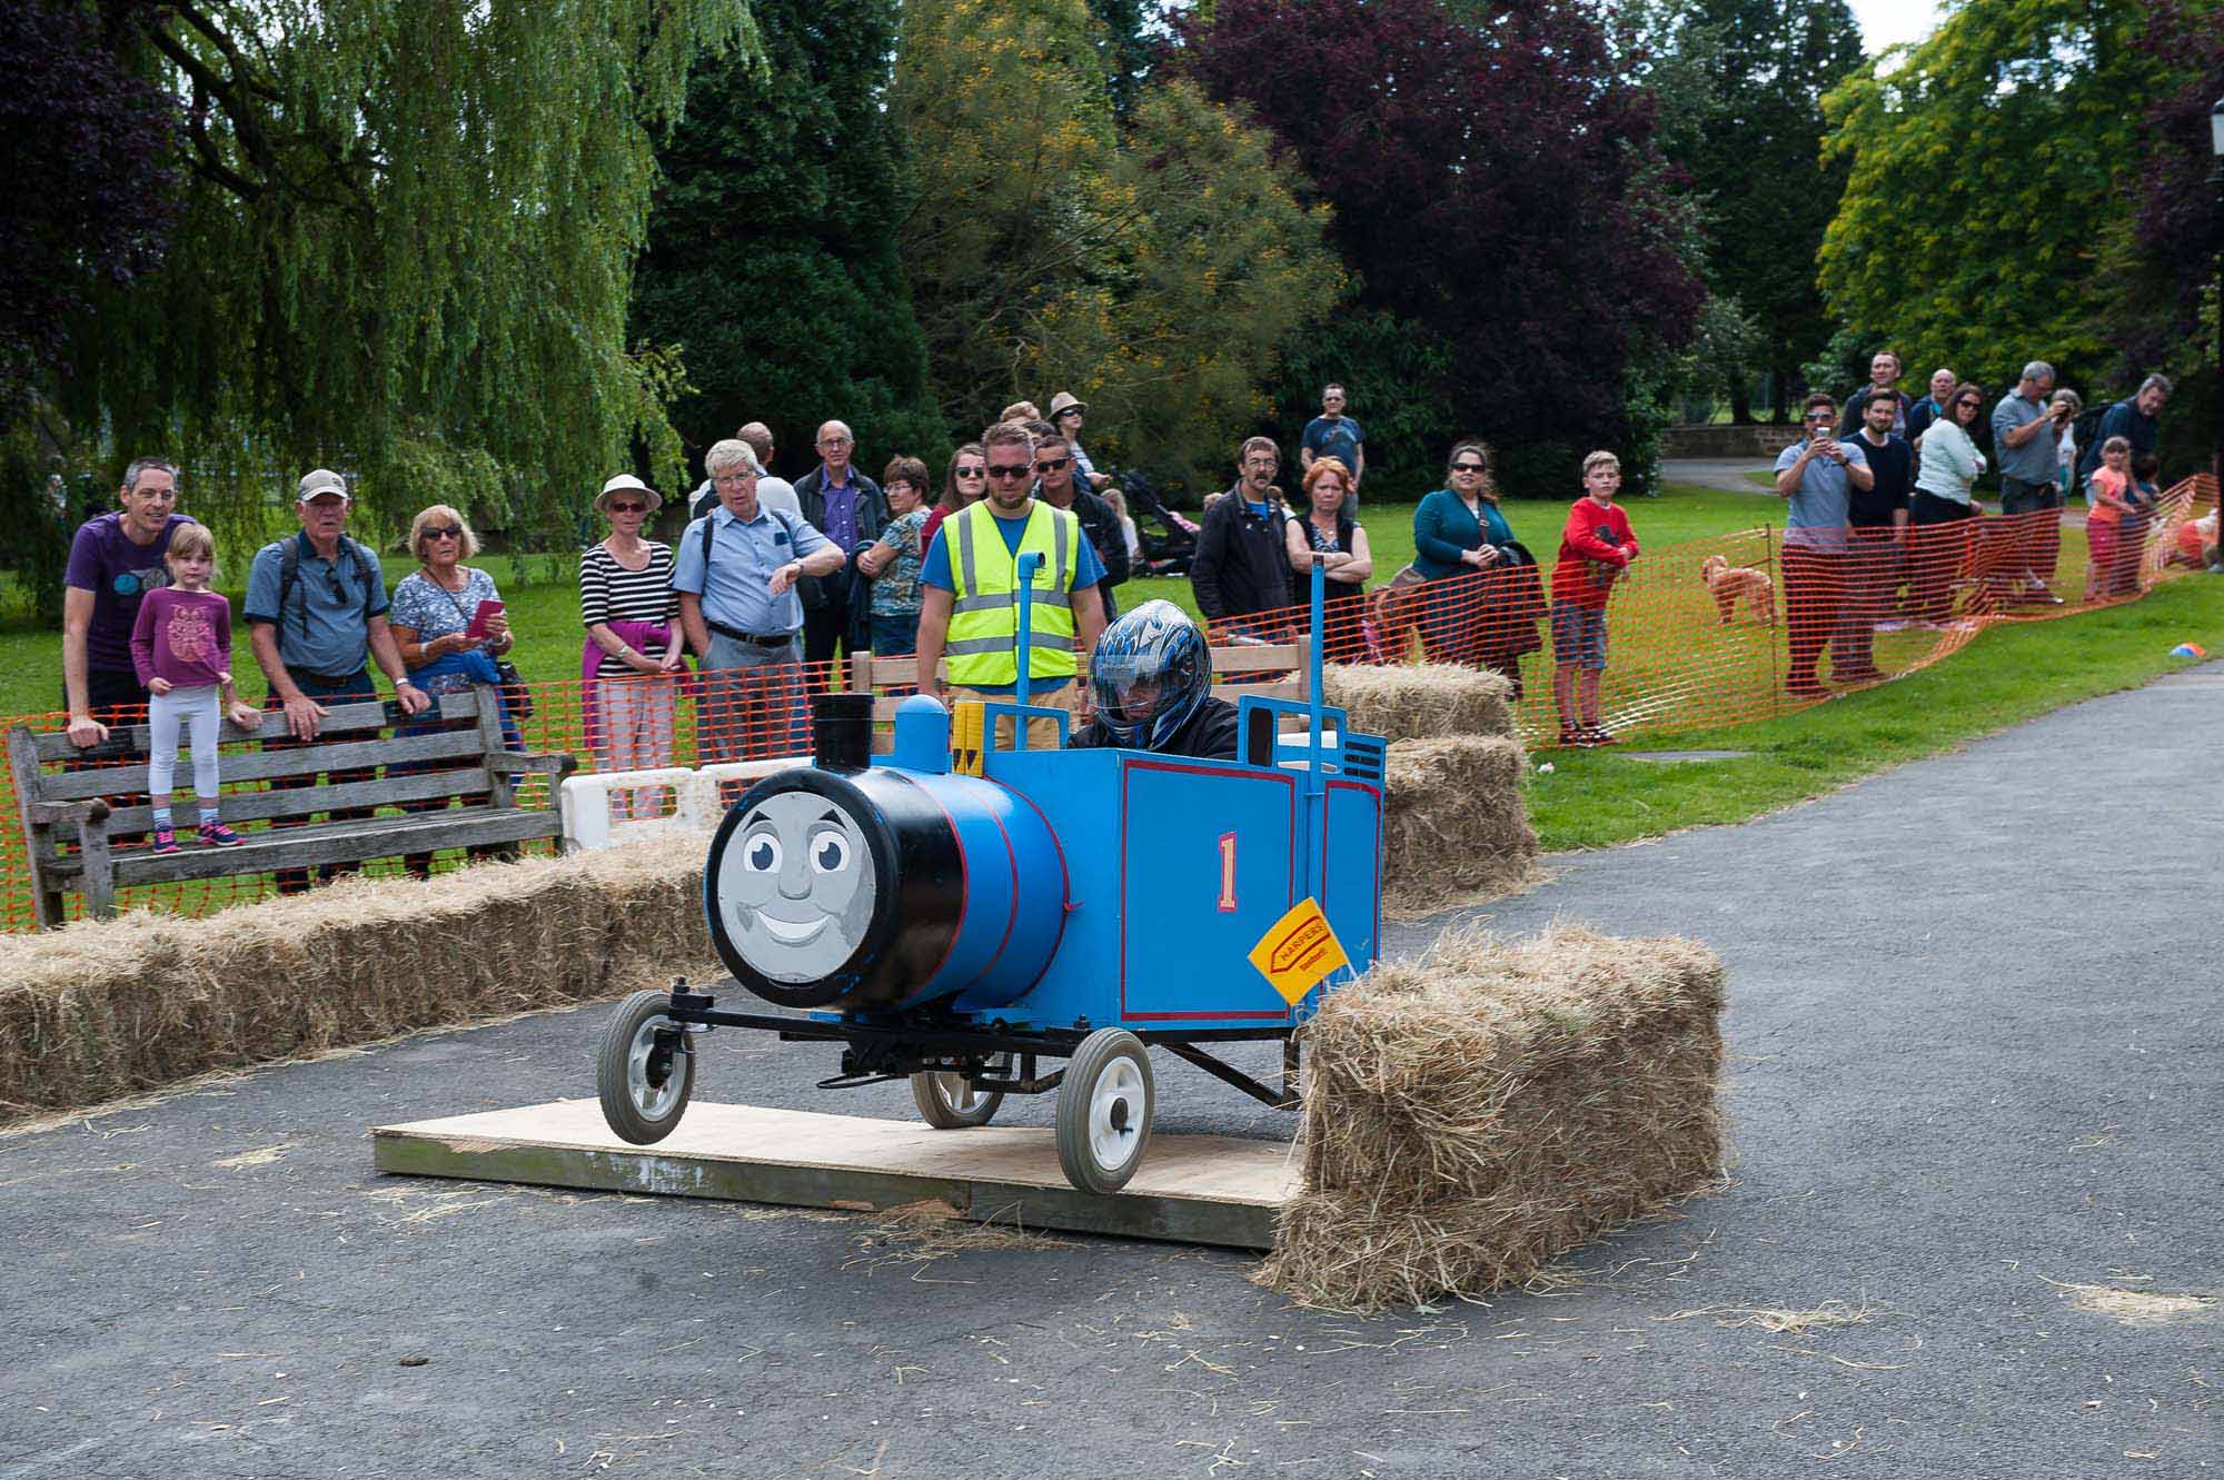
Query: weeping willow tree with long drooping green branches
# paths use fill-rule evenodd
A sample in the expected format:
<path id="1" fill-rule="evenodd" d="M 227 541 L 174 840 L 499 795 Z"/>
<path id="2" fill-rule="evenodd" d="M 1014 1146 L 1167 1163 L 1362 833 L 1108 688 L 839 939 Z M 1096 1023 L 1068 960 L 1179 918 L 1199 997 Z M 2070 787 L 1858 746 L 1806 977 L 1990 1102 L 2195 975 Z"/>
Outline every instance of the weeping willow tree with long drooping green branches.
<path id="1" fill-rule="evenodd" d="M 756 56 L 747 0 L 205 0 L 133 44 L 185 198 L 73 327 L 80 449 L 167 451 L 240 536 L 316 464 L 387 531 L 451 502 L 543 549 L 612 471 L 676 482 L 683 371 L 627 296 L 654 133 L 698 56 Z"/>

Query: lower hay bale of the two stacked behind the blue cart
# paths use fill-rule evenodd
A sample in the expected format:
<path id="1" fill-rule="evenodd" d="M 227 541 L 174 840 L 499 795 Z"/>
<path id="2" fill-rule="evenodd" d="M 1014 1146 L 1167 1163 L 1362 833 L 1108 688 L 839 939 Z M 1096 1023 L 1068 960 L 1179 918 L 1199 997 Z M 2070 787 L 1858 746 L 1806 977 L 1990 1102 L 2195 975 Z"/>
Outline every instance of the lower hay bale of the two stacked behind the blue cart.
<path id="1" fill-rule="evenodd" d="M 1512 736 L 1394 742 L 1383 773 L 1383 913 L 1412 920 L 1532 884 L 1526 771 Z"/>

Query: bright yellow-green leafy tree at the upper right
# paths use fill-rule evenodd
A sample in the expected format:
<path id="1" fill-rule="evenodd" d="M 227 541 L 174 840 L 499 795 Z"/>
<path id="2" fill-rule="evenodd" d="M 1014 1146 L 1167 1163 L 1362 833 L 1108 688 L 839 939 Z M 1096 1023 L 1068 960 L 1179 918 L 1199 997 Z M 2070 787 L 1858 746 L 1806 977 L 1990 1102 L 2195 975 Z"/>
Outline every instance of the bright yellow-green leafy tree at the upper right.
<path id="1" fill-rule="evenodd" d="M 1830 96 L 1846 193 L 1821 247 L 1830 309 L 1917 364 L 2006 384 L 2033 358 L 2108 362 L 2097 231 L 2128 213 L 2139 107 L 2166 64 L 2139 0 L 1966 0 Z"/>

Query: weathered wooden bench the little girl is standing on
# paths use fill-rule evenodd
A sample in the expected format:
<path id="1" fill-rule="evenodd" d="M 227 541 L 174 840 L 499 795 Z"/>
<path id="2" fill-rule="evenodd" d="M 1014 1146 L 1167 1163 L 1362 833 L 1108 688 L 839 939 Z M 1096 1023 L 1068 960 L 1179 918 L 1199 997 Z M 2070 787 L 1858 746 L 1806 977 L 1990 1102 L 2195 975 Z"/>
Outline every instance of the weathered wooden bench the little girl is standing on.
<path id="1" fill-rule="evenodd" d="M 347 864 L 396 853 L 431 853 L 458 847 L 498 847 L 516 851 L 529 838 L 560 838 L 563 820 L 554 802 L 545 809 L 523 809 L 516 791 L 527 776 L 547 776 L 549 789 L 578 764 L 572 756 L 527 756 L 503 749 L 500 704 L 489 689 L 447 693 L 440 698 L 440 720 L 454 729 L 420 736 L 394 736 L 389 729 L 425 724 L 423 713 L 405 720 L 396 704 L 338 704 L 325 718 L 318 738 L 298 747 L 238 749 L 249 740 L 289 740 L 285 711 L 265 711 L 251 729 L 231 720 L 222 727 L 222 780 L 276 782 L 325 771 L 376 771 L 385 776 L 342 784 L 294 784 L 254 791 L 225 791 L 225 822 L 271 822 L 269 829 L 242 831 L 236 849 L 211 849 L 193 838 L 198 804 L 193 800 L 193 764 L 178 756 L 173 773 L 173 809 L 180 818 L 176 853 L 149 851 L 151 840 L 116 847 L 116 838 L 149 833 L 153 807 L 147 791 L 147 727 L 118 727 L 109 738 L 80 751 L 60 731 L 38 733 L 24 724 L 9 729 L 9 764 L 16 776 L 16 802 L 31 858 L 31 889 L 40 927 L 62 922 L 62 896 L 82 893 L 87 913 L 116 913 L 116 891 L 131 884 L 167 884 L 196 878 L 236 878 L 269 869 L 311 869 Z M 51 769 L 85 760 L 80 769 Z M 405 762 L 436 762 L 438 771 L 394 776 Z M 109 798 L 133 798 L 116 804 Z M 451 800 L 463 807 L 447 807 Z M 338 809 L 378 809 L 423 802 L 438 811 L 405 811 L 345 822 L 309 822 L 314 813 Z"/>

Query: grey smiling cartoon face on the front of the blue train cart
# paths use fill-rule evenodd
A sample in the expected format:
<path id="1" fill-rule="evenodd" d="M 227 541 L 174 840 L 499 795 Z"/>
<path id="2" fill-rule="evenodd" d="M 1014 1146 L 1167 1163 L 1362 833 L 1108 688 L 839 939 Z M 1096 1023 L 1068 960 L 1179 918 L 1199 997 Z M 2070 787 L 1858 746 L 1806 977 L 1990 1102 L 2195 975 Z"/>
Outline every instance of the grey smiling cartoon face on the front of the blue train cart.
<path id="1" fill-rule="evenodd" d="M 774 982 L 818 982 L 865 940 L 878 878 L 856 820 L 814 791 L 763 798 L 727 833 L 718 909 L 743 960 Z"/>

